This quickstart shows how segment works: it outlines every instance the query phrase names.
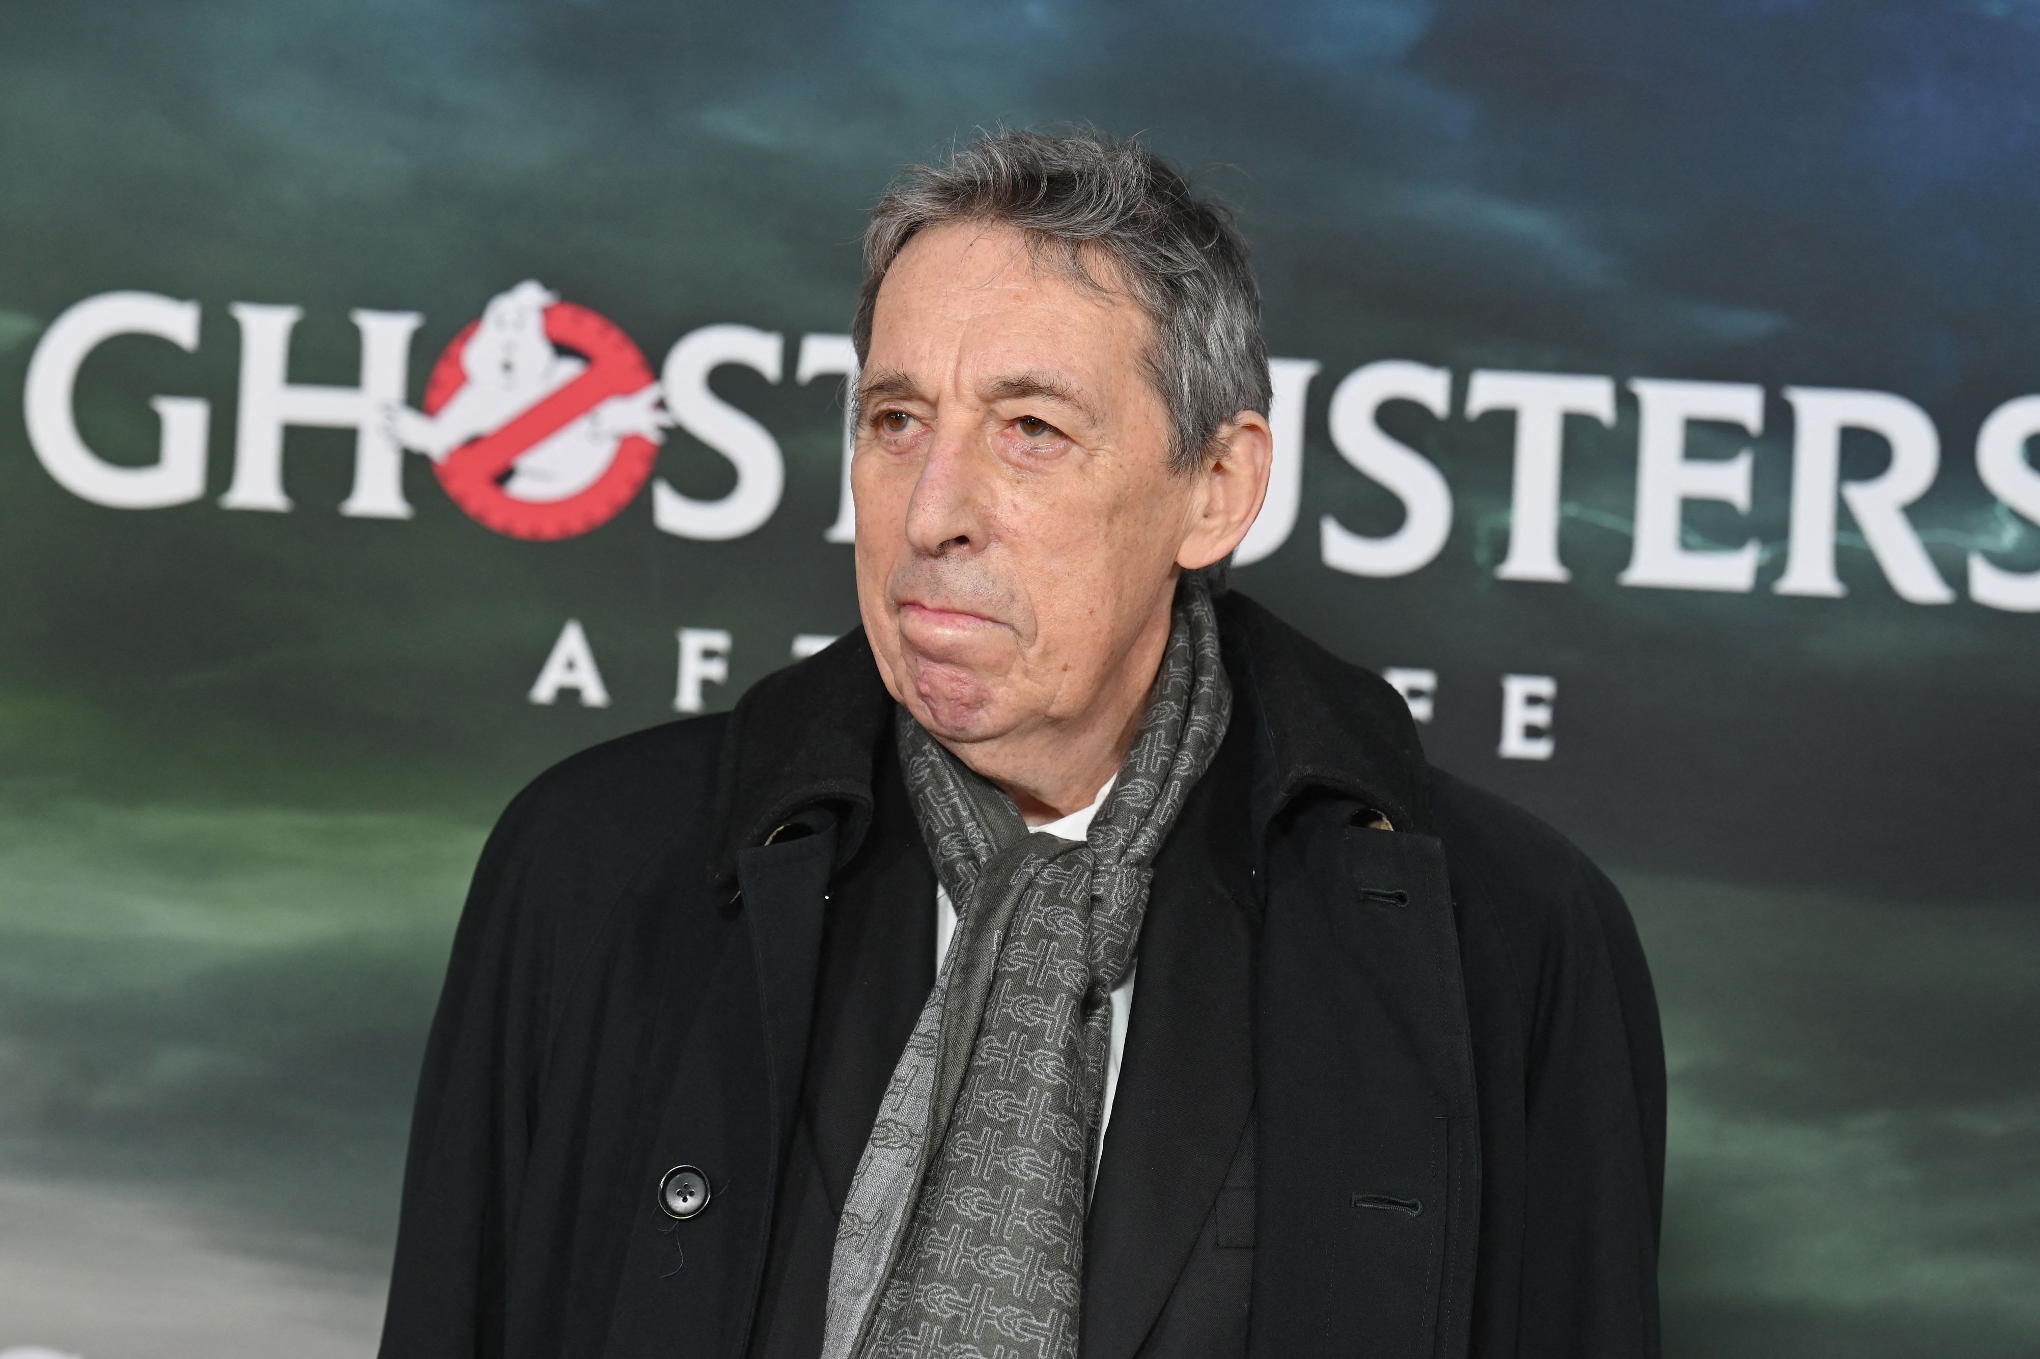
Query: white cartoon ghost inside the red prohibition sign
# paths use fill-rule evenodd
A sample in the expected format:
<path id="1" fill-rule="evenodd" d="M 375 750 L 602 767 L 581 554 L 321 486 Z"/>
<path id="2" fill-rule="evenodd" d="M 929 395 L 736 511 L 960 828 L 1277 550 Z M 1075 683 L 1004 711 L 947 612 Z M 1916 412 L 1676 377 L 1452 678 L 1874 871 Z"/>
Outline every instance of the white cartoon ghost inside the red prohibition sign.
<path id="1" fill-rule="evenodd" d="M 545 308 L 559 302 L 534 280 L 490 298 L 481 324 L 461 347 L 467 382 L 437 414 L 392 406 L 390 433 L 435 463 L 481 435 L 492 435 L 579 377 L 588 363 L 553 349 Z M 559 426 L 510 463 L 504 494 L 553 502 L 577 496 L 608 471 L 618 441 L 636 435 L 665 443 L 673 418 L 659 406 L 659 384 L 612 396 Z"/>

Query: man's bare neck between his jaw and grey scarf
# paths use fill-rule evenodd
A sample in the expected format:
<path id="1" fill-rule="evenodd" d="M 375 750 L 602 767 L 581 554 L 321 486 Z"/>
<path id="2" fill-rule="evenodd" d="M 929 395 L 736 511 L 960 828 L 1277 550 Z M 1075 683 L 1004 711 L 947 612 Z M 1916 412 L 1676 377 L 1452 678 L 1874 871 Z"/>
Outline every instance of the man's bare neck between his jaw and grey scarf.
<path id="1" fill-rule="evenodd" d="M 991 741 L 949 745 L 965 765 L 998 784 L 1030 826 L 1091 806 L 1120 771 L 1146 716 L 1155 671 L 1169 649 L 1173 592 L 1112 665 L 1112 679 L 1081 712 L 1049 718 Z"/>

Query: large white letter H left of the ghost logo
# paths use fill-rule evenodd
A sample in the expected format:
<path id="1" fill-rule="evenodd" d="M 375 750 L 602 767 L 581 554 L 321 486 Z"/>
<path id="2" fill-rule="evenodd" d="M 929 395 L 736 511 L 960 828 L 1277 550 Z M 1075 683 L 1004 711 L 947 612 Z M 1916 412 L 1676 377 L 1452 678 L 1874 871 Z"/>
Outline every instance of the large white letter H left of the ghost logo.
<path id="1" fill-rule="evenodd" d="M 298 306 L 235 302 L 241 322 L 241 404 L 235 416 L 235 480 L 220 496 L 226 510 L 290 510 L 284 494 L 284 426 L 355 431 L 355 484 L 341 514 L 410 518 L 404 500 L 404 449 L 390 414 L 404 404 L 410 337 L 418 312 L 347 312 L 361 331 L 361 386 L 322 388 L 288 382 L 290 333 Z"/>

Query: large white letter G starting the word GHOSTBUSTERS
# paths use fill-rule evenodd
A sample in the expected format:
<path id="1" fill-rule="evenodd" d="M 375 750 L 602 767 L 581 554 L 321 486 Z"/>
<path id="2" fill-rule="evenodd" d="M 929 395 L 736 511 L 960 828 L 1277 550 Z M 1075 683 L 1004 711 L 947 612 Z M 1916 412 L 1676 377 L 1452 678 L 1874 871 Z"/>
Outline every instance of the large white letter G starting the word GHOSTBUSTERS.
<path id="1" fill-rule="evenodd" d="M 198 302 L 153 292 L 104 292 L 65 308 L 29 359 L 22 416 L 29 447 L 63 490 L 116 510 L 155 510 L 206 494 L 206 420 L 196 396 L 151 396 L 161 424 L 155 461 L 122 467 L 104 461 L 78 433 L 73 394 L 86 355 L 116 335 L 153 335 L 177 349 L 198 349 Z"/>

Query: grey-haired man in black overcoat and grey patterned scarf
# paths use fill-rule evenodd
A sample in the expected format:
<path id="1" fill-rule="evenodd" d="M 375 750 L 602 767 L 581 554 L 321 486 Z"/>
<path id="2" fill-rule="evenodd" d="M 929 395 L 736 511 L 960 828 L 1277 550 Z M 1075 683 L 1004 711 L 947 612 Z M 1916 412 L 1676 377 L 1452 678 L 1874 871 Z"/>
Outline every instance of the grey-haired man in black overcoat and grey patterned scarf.
<path id="1" fill-rule="evenodd" d="M 384 1355 L 1654 1355 L 1622 900 L 1222 588 L 1228 218 L 998 133 L 865 261 L 863 631 L 504 814 Z"/>

